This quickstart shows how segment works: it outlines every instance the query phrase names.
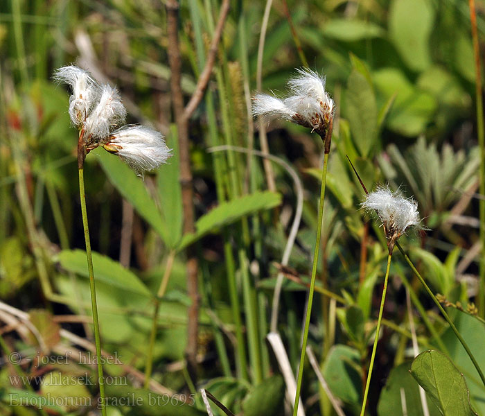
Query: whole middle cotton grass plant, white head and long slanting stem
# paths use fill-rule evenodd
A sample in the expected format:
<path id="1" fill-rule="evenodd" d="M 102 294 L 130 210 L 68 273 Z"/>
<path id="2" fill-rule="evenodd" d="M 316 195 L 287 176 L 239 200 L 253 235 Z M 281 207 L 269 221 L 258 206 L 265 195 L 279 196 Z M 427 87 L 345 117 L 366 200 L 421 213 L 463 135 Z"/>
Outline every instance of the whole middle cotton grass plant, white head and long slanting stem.
<path id="1" fill-rule="evenodd" d="M 276 117 L 292 123 L 303 125 L 316 132 L 324 142 L 324 166 L 321 171 L 321 190 L 317 220 L 317 241 L 313 252 L 312 275 L 308 305 L 306 309 L 305 326 L 303 327 L 303 342 L 301 346 L 300 365 L 297 377 L 297 392 L 294 399 L 293 416 L 297 416 L 298 404 L 303 380 L 303 364 L 305 363 L 308 329 L 312 311 L 317 265 L 320 251 L 321 227 L 324 218 L 325 185 L 328 166 L 328 155 L 332 141 L 333 118 L 335 103 L 325 90 L 326 80 L 318 73 L 309 69 L 298 69 L 297 75 L 288 81 L 288 96 L 278 98 L 267 94 L 257 94 L 253 99 L 254 116 Z"/>

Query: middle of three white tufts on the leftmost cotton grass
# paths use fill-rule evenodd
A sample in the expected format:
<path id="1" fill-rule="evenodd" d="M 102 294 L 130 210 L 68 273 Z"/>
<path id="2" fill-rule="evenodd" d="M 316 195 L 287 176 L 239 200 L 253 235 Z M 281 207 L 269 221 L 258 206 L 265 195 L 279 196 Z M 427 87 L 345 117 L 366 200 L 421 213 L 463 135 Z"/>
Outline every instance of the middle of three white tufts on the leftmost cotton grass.
<path id="1" fill-rule="evenodd" d="M 99 141 L 109 136 L 126 118 L 126 109 L 116 88 L 103 85 L 96 107 L 85 121 L 87 142 Z"/>

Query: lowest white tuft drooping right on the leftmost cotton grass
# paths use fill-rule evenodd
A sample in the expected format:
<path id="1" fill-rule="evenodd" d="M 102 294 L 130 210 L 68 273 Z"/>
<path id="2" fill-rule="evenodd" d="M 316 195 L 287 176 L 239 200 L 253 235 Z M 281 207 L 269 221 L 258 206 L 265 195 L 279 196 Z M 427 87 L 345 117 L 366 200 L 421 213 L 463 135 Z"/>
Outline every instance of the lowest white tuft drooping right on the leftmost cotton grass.
<path id="1" fill-rule="evenodd" d="M 172 156 L 161 133 L 142 125 L 125 125 L 112 132 L 105 149 L 121 157 L 139 176 Z"/>

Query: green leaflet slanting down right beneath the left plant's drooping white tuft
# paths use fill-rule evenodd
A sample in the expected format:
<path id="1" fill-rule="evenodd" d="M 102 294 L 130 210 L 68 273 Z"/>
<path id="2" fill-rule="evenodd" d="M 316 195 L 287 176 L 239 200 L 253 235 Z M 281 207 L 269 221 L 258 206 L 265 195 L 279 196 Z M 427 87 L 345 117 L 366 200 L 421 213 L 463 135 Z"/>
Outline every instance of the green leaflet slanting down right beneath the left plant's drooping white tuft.
<path id="1" fill-rule="evenodd" d="M 115 155 L 110 155 L 104 149 L 96 149 L 94 152 L 98 155 L 109 181 L 118 189 L 121 196 L 133 205 L 138 214 L 161 236 L 161 239 L 169 241 L 166 223 L 145 188 L 143 180 Z"/>

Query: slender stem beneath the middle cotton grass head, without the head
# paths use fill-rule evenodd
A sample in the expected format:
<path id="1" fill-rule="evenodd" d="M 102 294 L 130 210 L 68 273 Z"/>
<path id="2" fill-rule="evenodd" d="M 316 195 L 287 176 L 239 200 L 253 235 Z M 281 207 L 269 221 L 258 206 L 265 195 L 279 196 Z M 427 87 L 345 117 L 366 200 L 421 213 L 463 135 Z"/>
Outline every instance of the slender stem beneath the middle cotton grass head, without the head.
<path id="1" fill-rule="evenodd" d="M 312 277 L 310 280 L 310 292 L 308 293 L 308 305 L 306 307 L 305 327 L 303 328 L 303 343 L 301 345 L 300 365 L 298 368 L 297 394 L 294 398 L 293 416 L 297 416 L 298 403 L 301 392 L 301 381 L 303 380 L 303 364 L 305 363 L 306 343 L 308 340 L 308 328 L 310 327 L 310 315 L 312 312 L 313 293 L 315 293 L 315 280 L 317 278 L 318 255 L 320 252 L 321 227 L 324 222 L 324 201 L 325 185 L 328 167 L 328 155 L 330 154 L 330 144 L 332 140 L 333 119 L 330 119 L 326 136 L 324 138 L 324 167 L 321 171 L 320 202 L 318 207 L 317 221 L 317 241 L 315 241 L 315 251 L 313 252 Z"/>

